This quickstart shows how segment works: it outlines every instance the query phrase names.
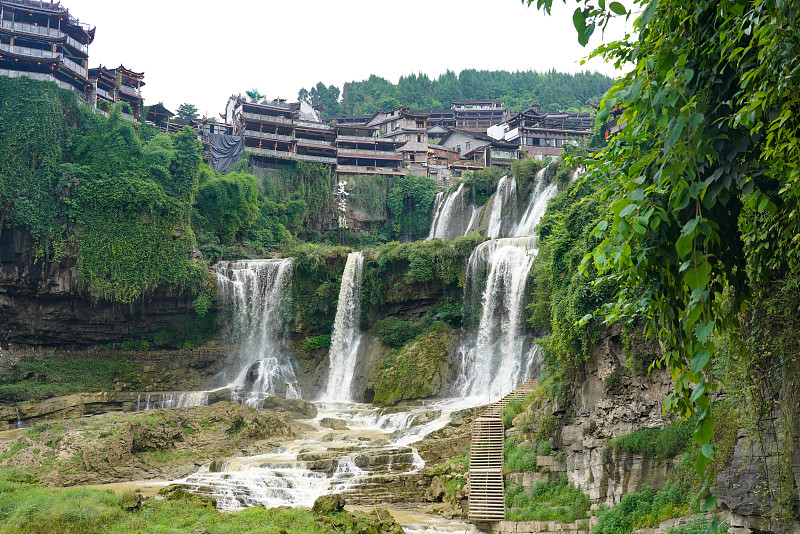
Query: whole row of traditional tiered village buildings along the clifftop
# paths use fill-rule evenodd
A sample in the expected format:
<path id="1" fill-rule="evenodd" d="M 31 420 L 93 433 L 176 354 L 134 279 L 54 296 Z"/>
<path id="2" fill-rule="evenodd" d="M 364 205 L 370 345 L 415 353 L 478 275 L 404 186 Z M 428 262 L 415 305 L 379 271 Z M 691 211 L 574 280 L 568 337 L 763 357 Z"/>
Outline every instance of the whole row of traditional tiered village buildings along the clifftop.
<path id="1" fill-rule="evenodd" d="M 257 93 L 259 98 L 231 96 L 221 120 L 176 119 L 161 103 L 145 104 L 144 72 L 122 64 L 90 68 L 96 28 L 59 2 L 3 2 L 0 19 L 0 75 L 54 81 L 100 113 L 119 105 L 123 117 L 164 132 L 189 126 L 203 141 L 204 158 L 215 170 L 228 170 L 247 153 L 255 166 L 312 161 L 332 166 L 340 178 L 411 173 L 446 188 L 467 171 L 489 166 L 508 170 L 525 157 L 558 156 L 565 143 L 585 145 L 594 126 L 588 112 L 533 105 L 512 113 L 502 101 L 491 99 L 453 101 L 450 109 L 399 107 L 372 116 L 323 119 L 321 105 L 268 100 Z"/>

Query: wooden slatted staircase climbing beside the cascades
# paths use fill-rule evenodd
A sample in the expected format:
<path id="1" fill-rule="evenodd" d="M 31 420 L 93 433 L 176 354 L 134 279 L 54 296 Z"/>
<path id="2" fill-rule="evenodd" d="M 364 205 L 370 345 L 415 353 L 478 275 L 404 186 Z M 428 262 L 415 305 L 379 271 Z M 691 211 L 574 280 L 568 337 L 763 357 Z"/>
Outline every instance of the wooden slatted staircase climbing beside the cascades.
<path id="1" fill-rule="evenodd" d="M 512 400 L 522 400 L 536 388 L 528 380 L 517 389 L 488 406 L 472 421 L 469 449 L 469 519 L 502 521 L 505 518 L 503 484 L 503 410 Z"/>

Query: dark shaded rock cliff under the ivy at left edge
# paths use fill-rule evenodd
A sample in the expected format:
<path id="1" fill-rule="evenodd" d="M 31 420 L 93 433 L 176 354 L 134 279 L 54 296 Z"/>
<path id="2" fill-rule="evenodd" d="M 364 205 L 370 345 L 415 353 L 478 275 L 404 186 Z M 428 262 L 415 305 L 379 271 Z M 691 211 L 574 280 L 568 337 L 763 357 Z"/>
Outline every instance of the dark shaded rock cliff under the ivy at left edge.
<path id="1" fill-rule="evenodd" d="M 89 347 L 183 326 L 191 300 L 159 290 L 132 305 L 93 301 L 80 287 L 73 258 L 36 258 L 31 235 L 0 231 L 0 346 Z"/>

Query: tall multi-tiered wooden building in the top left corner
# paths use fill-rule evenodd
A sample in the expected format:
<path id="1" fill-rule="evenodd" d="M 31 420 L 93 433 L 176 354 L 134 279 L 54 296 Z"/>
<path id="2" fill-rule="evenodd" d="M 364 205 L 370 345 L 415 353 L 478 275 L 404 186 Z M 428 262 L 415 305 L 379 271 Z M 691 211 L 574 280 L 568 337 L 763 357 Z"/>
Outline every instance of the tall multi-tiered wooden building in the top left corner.
<path id="1" fill-rule="evenodd" d="M 0 76 L 52 81 L 88 101 L 94 33 L 58 2 L 0 0 Z"/>

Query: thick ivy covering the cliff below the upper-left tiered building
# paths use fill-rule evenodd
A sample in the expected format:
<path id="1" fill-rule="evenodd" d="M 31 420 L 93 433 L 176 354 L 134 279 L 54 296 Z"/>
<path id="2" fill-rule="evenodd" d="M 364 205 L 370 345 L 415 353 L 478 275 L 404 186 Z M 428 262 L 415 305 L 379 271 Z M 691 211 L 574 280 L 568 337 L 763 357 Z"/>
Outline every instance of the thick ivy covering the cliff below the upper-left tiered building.
<path id="1" fill-rule="evenodd" d="M 130 303 L 162 284 L 210 290 L 190 259 L 200 165 L 191 130 L 143 141 L 118 109 L 105 118 L 27 78 L 0 80 L 0 96 L 0 224 L 27 228 L 39 256 L 77 256 L 94 298 Z"/>

